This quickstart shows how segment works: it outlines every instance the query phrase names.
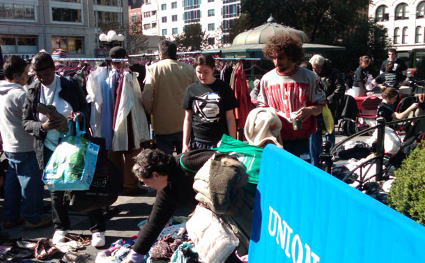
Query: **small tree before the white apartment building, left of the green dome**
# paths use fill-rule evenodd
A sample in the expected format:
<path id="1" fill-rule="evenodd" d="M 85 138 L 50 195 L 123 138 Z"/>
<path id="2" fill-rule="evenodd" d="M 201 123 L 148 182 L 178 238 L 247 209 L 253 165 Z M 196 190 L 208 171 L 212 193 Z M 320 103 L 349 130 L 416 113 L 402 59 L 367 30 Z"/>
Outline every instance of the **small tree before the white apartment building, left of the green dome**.
<path id="1" fill-rule="evenodd" d="M 183 32 L 184 33 L 180 33 L 174 37 L 178 44 L 179 51 L 201 50 L 201 45 L 203 45 L 203 42 L 207 39 L 201 24 L 187 24 Z"/>

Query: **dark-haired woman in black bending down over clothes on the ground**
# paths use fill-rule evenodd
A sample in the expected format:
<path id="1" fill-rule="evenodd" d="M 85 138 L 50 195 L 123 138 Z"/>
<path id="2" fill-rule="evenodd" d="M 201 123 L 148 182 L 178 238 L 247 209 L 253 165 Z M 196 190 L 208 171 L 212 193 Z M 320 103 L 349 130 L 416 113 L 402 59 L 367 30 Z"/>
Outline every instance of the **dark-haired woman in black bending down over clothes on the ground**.
<path id="1" fill-rule="evenodd" d="M 139 263 L 143 260 L 143 255 L 149 252 L 177 207 L 187 207 L 192 211 L 195 209 L 198 201 L 193 189 L 194 175 L 213 154 L 216 160 L 233 160 L 240 164 L 228 154 L 206 149 L 185 152 L 176 157 L 164 154 L 161 150 L 148 149 L 134 157 L 134 175 L 146 186 L 156 189 L 157 195 L 152 212 L 140 230 L 132 252 L 123 263 Z M 229 257 L 226 262 L 239 261 Z"/>

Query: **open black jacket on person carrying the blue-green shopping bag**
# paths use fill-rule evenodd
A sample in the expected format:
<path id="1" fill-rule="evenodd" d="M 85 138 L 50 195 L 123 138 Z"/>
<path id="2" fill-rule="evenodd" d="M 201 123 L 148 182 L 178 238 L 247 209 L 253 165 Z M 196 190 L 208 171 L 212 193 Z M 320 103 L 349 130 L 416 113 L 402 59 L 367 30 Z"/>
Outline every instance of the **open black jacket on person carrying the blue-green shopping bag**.
<path id="1" fill-rule="evenodd" d="M 82 112 L 86 119 L 86 125 L 88 125 L 88 104 L 82 88 L 74 79 L 68 80 L 65 77 L 60 77 L 60 80 L 61 91 L 59 92 L 59 97 L 71 105 L 72 111 Z M 24 108 L 22 109 L 22 126 L 36 138 L 34 140 L 34 150 L 36 151 L 38 166 L 40 166 L 40 169 L 44 169 L 43 149 L 47 132 L 41 130 L 42 122 L 38 118 L 37 106 L 40 104 L 40 89 L 41 83 L 36 80 L 31 83 L 26 92 Z"/>

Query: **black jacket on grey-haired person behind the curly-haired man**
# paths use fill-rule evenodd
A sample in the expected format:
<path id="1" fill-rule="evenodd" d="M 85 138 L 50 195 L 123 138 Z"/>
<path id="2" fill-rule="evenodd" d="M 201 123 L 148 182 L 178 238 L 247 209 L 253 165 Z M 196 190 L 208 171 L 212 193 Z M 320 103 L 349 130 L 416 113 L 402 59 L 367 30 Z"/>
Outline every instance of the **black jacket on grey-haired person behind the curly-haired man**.
<path id="1" fill-rule="evenodd" d="M 339 99 L 346 93 L 346 84 L 341 79 L 339 71 L 331 67 L 328 60 L 325 61 L 322 72 L 318 75 L 318 80 L 325 91 L 327 106 L 332 114 L 334 114 Z"/>

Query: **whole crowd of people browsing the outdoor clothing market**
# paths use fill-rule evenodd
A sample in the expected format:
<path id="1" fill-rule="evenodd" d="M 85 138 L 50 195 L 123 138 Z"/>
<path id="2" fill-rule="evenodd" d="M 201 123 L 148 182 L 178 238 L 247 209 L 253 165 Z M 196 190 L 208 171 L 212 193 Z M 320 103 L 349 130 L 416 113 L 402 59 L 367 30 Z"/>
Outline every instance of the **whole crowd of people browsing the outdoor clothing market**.
<path id="1" fill-rule="evenodd" d="M 160 42 L 159 51 L 160 61 L 146 67 L 139 98 L 146 113 L 152 116 L 158 150 L 130 149 L 109 154 L 111 159 L 120 159 L 121 166 L 127 170 L 127 175 L 123 175 L 127 189 L 137 189 L 138 182 L 142 182 L 157 190 L 152 213 L 126 262 L 141 262 L 176 207 L 196 207 L 198 201 L 192 188 L 196 171 L 212 156 L 214 151 L 210 149 L 217 147 L 223 135 L 236 138 L 233 111 L 238 101 L 229 83 L 215 77 L 213 56 L 199 54 L 192 67 L 177 60 L 177 47 L 169 40 Z M 56 54 L 58 52 L 61 51 Z M 319 166 L 323 106 L 327 104 L 337 118 L 337 107 L 346 94 L 346 83 L 323 56 L 314 55 L 298 65 L 304 54 L 302 41 L 295 35 L 279 34 L 269 38 L 263 54 L 270 58 L 275 68 L 261 80 L 254 81 L 251 99 L 256 101 L 257 107 L 272 109 L 272 118 L 280 120 L 280 131 L 268 133 L 261 140 L 261 146 L 275 143 Z M 396 89 L 405 81 L 403 72 L 407 67 L 396 57 L 395 49 L 389 49 L 388 55 L 381 67 L 382 74 L 372 81 L 382 91 L 380 109 L 387 121 L 405 118 L 418 106 L 412 104 L 403 113 L 394 112 L 391 105 L 398 94 Z M 127 58 L 122 47 L 111 49 L 110 56 Z M 353 83 L 355 96 L 368 92 L 370 63 L 368 56 L 360 57 Z M 111 64 L 111 69 L 123 67 L 123 62 Z M 34 75 L 31 83 L 28 81 L 30 70 Z M 3 65 L 3 75 L 0 133 L 8 159 L 3 227 L 23 224 L 24 230 L 32 230 L 53 223 L 53 244 L 63 242 L 70 229 L 68 208 L 63 203 L 64 191 L 50 191 L 52 218 L 42 218 L 42 170 L 59 145 L 61 134 L 70 132 L 68 121 L 88 126 L 91 113 L 86 94 L 77 80 L 56 73 L 52 56 L 44 51 L 32 58 L 31 65 L 18 56 L 10 56 Z M 332 145 L 335 143 L 334 132 L 325 134 L 325 138 Z M 177 153 L 176 157 L 172 157 L 173 152 Z M 182 162 L 183 155 L 185 161 Z M 88 218 L 93 233 L 92 245 L 105 246 L 106 225 L 102 210 L 88 212 Z"/>

